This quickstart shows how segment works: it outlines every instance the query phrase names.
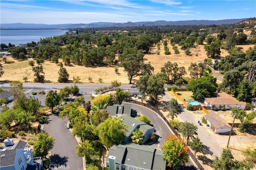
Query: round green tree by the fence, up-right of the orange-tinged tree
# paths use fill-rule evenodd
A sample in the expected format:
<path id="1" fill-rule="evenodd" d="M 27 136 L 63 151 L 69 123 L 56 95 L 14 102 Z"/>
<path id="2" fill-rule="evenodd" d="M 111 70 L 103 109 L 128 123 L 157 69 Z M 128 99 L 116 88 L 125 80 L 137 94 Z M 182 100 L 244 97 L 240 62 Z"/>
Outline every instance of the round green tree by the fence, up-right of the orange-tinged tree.
<path id="1" fill-rule="evenodd" d="M 180 133 L 184 138 L 187 140 L 187 144 L 189 143 L 190 138 L 193 138 L 194 135 L 197 135 L 198 127 L 195 126 L 193 123 L 184 122 L 180 126 Z"/>

